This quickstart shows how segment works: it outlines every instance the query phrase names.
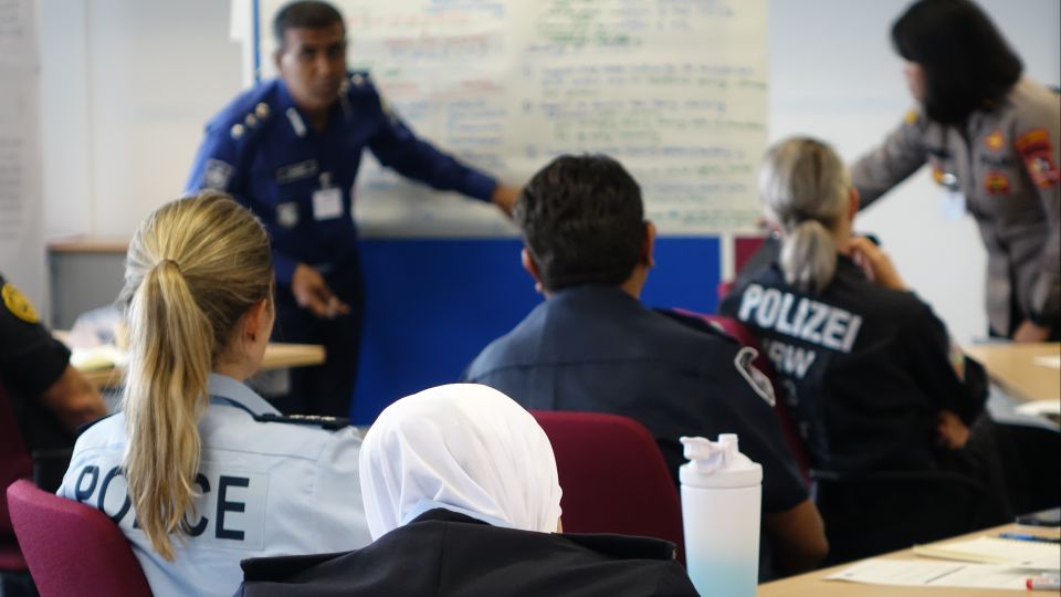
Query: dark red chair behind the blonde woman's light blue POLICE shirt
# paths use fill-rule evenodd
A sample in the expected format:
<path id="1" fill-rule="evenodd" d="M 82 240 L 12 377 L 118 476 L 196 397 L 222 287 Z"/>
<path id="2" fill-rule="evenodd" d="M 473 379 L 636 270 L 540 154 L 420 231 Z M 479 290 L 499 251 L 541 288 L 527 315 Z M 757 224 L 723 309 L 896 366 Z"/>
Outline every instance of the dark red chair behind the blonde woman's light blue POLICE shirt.
<path id="1" fill-rule="evenodd" d="M 25 479 L 8 488 L 8 507 L 42 597 L 150 597 L 129 543 L 103 512 L 41 491 Z"/>

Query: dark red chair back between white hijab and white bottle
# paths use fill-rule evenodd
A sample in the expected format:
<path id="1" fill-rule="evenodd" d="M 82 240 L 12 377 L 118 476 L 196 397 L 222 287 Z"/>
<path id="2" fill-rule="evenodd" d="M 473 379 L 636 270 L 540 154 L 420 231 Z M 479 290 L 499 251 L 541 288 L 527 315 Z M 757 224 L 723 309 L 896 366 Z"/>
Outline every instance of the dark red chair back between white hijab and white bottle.
<path id="1" fill-rule="evenodd" d="M 663 454 L 640 422 L 602 412 L 530 411 L 549 437 L 564 531 L 682 541 L 682 505 Z"/>

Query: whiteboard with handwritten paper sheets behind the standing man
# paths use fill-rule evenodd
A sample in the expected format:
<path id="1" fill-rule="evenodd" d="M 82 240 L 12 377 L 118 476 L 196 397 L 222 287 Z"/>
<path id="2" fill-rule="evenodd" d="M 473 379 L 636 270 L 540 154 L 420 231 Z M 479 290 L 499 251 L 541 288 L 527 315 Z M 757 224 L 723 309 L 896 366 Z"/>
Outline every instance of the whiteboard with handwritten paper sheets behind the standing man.
<path id="1" fill-rule="evenodd" d="M 275 75 L 259 0 L 262 76 Z M 340 0 L 351 70 L 417 134 L 519 186 L 561 154 L 603 153 L 661 233 L 749 231 L 767 129 L 766 0 Z M 438 193 L 366 153 L 369 235 L 514 234 L 493 206 Z"/>

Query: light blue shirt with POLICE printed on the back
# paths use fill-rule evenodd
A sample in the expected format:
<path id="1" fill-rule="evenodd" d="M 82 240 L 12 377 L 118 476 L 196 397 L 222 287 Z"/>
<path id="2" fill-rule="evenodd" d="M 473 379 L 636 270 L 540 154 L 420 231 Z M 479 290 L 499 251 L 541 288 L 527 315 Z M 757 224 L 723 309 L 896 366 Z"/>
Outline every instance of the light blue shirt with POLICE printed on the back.
<path id="1" fill-rule="evenodd" d="M 260 422 L 280 412 L 239 381 L 210 375 L 210 406 L 199 422 L 201 496 L 191 532 L 174 537 L 166 562 L 136 526 L 122 473 L 125 417 L 93 425 L 74 447 L 57 494 L 102 510 L 122 528 L 155 595 L 232 595 L 240 561 L 340 552 L 368 545 L 353 427 Z"/>

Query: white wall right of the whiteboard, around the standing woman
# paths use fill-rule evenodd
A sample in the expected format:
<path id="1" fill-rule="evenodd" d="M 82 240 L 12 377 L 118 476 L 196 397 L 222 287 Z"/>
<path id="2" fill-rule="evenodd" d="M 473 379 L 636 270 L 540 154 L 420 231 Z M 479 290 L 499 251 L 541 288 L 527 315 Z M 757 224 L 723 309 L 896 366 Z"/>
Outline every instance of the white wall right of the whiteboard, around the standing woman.
<path id="1" fill-rule="evenodd" d="M 770 139 L 811 134 L 854 159 L 899 124 L 912 103 L 893 53 L 891 24 L 907 0 L 770 2 Z M 1058 0 L 980 0 L 1023 59 L 1026 72 L 1061 76 Z M 983 337 L 986 254 L 971 218 L 941 216 L 927 169 L 855 222 L 875 232 L 907 283 L 959 342 Z"/>

